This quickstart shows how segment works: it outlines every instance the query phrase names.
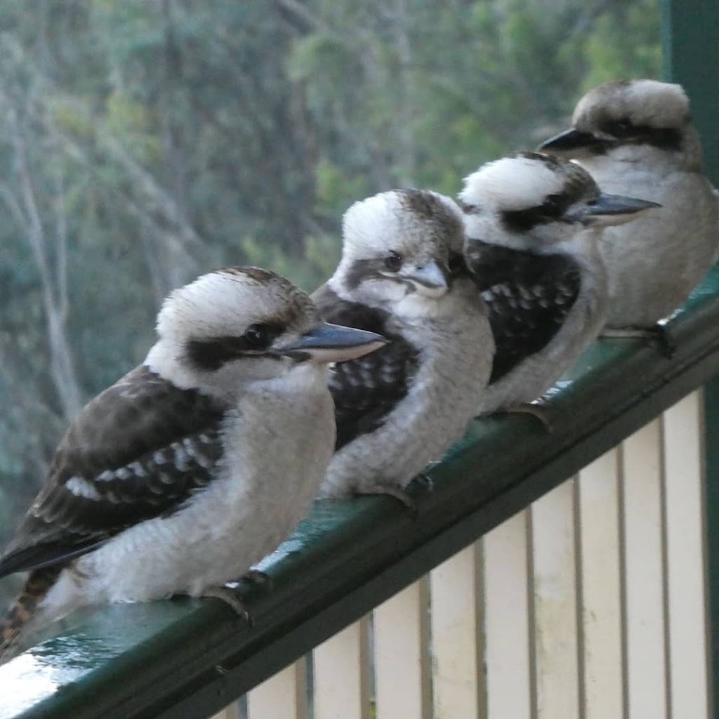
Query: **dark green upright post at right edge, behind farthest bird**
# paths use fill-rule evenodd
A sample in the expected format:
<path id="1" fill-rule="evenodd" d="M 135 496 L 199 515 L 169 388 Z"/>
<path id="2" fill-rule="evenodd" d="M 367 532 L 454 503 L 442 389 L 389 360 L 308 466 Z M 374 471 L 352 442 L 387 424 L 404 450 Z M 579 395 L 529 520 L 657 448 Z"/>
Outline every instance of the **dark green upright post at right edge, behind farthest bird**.
<path id="1" fill-rule="evenodd" d="M 719 3 L 662 0 L 662 11 L 664 76 L 687 90 L 707 173 L 719 185 Z M 710 695 L 719 719 L 719 378 L 705 385 L 704 403 Z"/>

